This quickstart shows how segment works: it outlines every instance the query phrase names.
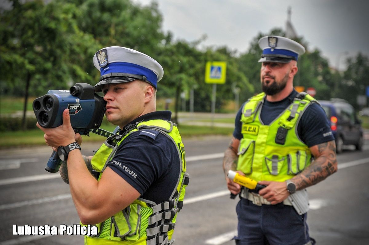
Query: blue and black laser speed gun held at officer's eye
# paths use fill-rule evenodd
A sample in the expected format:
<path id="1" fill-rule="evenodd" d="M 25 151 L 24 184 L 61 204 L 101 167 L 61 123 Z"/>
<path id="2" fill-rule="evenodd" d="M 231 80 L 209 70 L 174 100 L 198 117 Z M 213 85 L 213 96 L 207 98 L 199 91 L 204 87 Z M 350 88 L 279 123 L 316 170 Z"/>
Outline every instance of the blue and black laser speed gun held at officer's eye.
<path id="1" fill-rule="evenodd" d="M 63 111 L 69 109 L 70 124 L 76 133 L 89 135 L 93 132 L 109 137 L 117 132 L 99 128 L 103 121 L 106 102 L 97 95 L 92 85 L 76 83 L 69 90 L 49 90 L 44 96 L 34 100 L 32 107 L 37 122 L 44 128 L 55 128 L 63 124 Z M 56 173 L 62 164 L 57 152 L 53 151 L 45 170 Z"/>

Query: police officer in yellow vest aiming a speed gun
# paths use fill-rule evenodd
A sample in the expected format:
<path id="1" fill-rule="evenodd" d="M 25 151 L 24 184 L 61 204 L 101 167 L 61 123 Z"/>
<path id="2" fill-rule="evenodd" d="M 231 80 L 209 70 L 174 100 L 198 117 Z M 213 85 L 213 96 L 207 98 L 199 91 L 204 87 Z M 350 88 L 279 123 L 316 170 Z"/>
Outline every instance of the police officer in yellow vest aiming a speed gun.
<path id="1" fill-rule="evenodd" d="M 96 227 L 94 234 L 85 236 L 85 244 L 172 244 L 189 175 L 182 139 L 170 121 L 170 111 L 156 111 L 156 88 L 163 68 L 146 54 L 117 46 L 99 50 L 93 63 L 101 77 L 92 93 L 86 84 L 76 84 L 70 91 L 50 90 L 48 106 L 41 106 L 45 99 L 36 103 L 38 111 L 45 107 L 37 112 L 37 125 L 45 132 L 46 144 L 64 160 L 59 173 L 69 183 L 81 223 Z M 89 121 L 87 114 L 95 113 L 83 114 L 93 103 L 82 102 L 92 97 L 101 104 L 94 92 L 104 95 L 103 108 L 94 108 L 99 110 L 96 117 L 105 113 L 119 128 L 87 157 L 80 153 L 80 132 L 95 130 L 102 120 L 81 125 Z M 73 103 L 58 110 L 65 93 L 73 97 Z M 57 114 L 55 118 L 49 111 Z M 85 120 L 75 119 L 79 114 Z M 54 123 L 58 120 L 61 125 Z"/>

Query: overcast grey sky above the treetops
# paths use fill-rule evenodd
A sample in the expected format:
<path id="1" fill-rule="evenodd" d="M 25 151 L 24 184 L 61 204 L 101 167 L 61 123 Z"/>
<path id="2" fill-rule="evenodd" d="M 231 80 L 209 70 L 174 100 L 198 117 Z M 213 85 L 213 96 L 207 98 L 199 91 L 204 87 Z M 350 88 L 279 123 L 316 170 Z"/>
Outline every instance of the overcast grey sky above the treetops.
<path id="1" fill-rule="evenodd" d="M 152 0 L 133 0 L 147 5 Z M 193 41 L 206 34 L 205 46 L 226 45 L 248 50 L 259 32 L 285 30 L 287 9 L 298 36 L 318 48 L 331 67 L 342 70 L 344 60 L 358 52 L 369 56 L 367 0 L 156 0 L 163 30 L 175 39 Z M 201 47 L 201 46 L 200 46 Z M 339 60 L 339 64 L 337 62 Z"/>

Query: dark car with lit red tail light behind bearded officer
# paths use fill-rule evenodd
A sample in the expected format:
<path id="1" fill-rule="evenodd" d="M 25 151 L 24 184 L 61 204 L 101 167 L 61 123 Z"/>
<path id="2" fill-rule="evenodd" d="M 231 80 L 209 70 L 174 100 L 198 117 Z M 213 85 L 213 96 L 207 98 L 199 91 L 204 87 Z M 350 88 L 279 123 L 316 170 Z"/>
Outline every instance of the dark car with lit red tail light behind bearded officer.
<path id="1" fill-rule="evenodd" d="M 343 145 L 355 145 L 356 150 L 362 150 L 363 129 L 354 107 L 342 99 L 320 100 L 319 103 L 331 123 L 337 153 L 342 152 Z"/>

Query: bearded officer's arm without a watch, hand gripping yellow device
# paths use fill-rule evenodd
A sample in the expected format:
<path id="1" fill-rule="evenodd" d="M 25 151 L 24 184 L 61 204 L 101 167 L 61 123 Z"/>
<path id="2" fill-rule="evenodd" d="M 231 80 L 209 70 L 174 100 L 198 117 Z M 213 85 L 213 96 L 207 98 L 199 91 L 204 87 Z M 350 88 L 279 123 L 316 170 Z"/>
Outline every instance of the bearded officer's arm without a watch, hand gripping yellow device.
<path id="1" fill-rule="evenodd" d="M 241 186 L 229 178 L 227 178 L 227 173 L 229 170 L 236 170 L 237 167 L 237 150 L 239 145 L 239 139 L 232 138 L 230 145 L 228 146 L 227 150 L 224 152 L 224 159 L 223 159 L 223 171 L 226 175 L 225 180 L 227 181 L 227 187 L 231 191 L 232 194 L 237 195 L 241 191 Z M 245 175 L 241 171 L 237 171 L 241 175 Z"/>

